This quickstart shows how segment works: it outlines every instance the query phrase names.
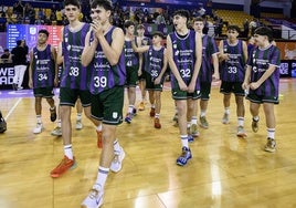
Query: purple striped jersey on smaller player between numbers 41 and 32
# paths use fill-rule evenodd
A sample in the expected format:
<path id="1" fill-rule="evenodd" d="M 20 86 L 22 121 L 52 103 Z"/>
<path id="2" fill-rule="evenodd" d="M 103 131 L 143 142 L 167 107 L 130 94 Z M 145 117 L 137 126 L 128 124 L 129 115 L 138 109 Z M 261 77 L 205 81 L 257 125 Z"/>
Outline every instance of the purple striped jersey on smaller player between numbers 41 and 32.
<path id="1" fill-rule="evenodd" d="M 150 45 L 149 50 L 145 53 L 145 60 L 147 60 L 145 69 L 154 80 L 159 76 L 162 70 L 163 54 L 165 54 L 163 46 L 161 46 L 158 50 L 155 50 L 152 45 Z"/>

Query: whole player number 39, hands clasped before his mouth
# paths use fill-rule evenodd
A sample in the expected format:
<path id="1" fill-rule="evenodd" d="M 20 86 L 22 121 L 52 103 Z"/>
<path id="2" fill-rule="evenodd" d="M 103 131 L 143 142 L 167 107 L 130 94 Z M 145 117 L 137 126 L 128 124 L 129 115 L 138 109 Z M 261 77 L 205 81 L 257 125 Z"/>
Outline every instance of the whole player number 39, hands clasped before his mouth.
<path id="1" fill-rule="evenodd" d="M 108 173 L 119 171 L 125 157 L 116 139 L 117 125 L 123 122 L 126 81 L 124 32 L 109 22 L 113 9 L 109 0 L 94 0 L 91 8 L 93 23 L 85 39 L 82 63 L 91 66 L 92 116 L 103 122 L 103 149 L 96 181 L 82 202 L 87 208 L 101 207 Z"/>

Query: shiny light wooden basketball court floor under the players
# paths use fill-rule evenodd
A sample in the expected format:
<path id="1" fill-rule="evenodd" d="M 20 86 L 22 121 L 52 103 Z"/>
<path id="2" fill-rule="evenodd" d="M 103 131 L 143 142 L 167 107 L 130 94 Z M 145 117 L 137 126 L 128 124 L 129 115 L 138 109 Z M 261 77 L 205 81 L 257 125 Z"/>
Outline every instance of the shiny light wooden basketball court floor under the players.
<path id="1" fill-rule="evenodd" d="M 296 207 L 296 80 L 281 80 L 281 104 L 275 107 L 276 153 L 266 153 L 263 110 L 258 133 L 251 129 L 245 102 L 246 138 L 237 138 L 234 97 L 231 123 L 223 125 L 222 95 L 215 84 L 208 110 L 209 129 L 190 144 L 193 158 L 176 165 L 181 152 L 173 126 L 169 89 L 162 93 L 161 129 L 154 128 L 149 105 L 118 127 L 126 152 L 123 169 L 109 174 L 104 208 L 292 208 Z M 137 91 L 139 95 L 139 91 Z M 44 132 L 34 135 L 34 98 L 4 98 L 0 108 L 8 131 L 0 134 L 0 208 L 77 208 L 95 181 L 101 150 L 94 126 L 83 117 L 76 131 L 72 112 L 73 148 L 77 167 L 52 179 L 50 171 L 63 157 L 62 139 L 51 136 L 49 106 L 43 102 Z M 138 96 L 139 100 L 139 96 Z M 126 108 L 124 112 L 126 112 Z"/>

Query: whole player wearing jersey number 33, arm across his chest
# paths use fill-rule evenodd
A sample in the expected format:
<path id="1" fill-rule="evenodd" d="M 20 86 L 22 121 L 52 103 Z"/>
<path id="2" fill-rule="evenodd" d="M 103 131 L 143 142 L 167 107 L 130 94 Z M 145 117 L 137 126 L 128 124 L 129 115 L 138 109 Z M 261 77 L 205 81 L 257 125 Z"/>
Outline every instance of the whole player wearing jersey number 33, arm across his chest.
<path id="1" fill-rule="evenodd" d="M 223 105 L 224 115 L 223 124 L 230 123 L 230 98 L 231 93 L 235 95 L 236 116 L 237 116 L 237 133 L 240 137 L 245 137 L 244 131 L 244 95 L 242 89 L 245 74 L 245 62 L 247 60 L 247 45 L 244 41 L 239 40 L 240 28 L 237 25 L 229 25 L 228 39 L 220 41 L 219 58 L 221 61 L 221 87 L 220 92 L 224 94 Z"/>

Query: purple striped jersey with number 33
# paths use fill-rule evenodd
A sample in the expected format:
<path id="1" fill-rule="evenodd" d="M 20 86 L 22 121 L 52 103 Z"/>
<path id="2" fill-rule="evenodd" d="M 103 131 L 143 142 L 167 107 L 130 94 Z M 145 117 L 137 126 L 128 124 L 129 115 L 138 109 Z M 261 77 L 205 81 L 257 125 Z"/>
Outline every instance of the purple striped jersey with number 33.
<path id="1" fill-rule="evenodd" d="M 221 80 L 225 82 L 243 82 L 246 62 L 243 52 L 243 41 L 237 40 L 237 44 L 231 45 L 228 40 L 224 40 L 223 52 L 229 53 L 230 59 L 222 62 Z"/>

